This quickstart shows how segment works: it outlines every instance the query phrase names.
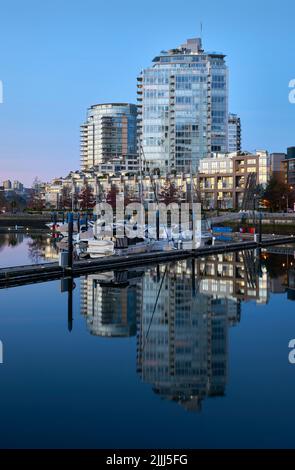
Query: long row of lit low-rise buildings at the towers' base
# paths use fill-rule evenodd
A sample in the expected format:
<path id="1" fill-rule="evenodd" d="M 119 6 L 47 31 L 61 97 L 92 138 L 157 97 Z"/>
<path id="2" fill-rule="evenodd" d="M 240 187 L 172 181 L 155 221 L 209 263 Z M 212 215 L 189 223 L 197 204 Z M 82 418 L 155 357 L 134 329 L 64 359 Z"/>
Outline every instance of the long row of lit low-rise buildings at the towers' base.
<path id="1" fill-rule="evenodd" d="M 97 201 L 105 201 L 116 188 L 129 199 L 145 203 L 157 200 L 161 190 L 171 183 L 177 189 L 180 202 L 201 202 L 204 209 L 238 209 L 242 205 L 247 178 L 255 175 L 257 185 L 266 185 L 270 176 L 270 161 L 266 151 L 216 154 L 201 161 L 199 173 L 173 173 L 169 175 L 100 172 L 95 168 L 71 172 L 65 178 L 56 178 L 45 189 L 47 206 L 63 209 L 63 195 L 78 199 L 86 185 Z"/>

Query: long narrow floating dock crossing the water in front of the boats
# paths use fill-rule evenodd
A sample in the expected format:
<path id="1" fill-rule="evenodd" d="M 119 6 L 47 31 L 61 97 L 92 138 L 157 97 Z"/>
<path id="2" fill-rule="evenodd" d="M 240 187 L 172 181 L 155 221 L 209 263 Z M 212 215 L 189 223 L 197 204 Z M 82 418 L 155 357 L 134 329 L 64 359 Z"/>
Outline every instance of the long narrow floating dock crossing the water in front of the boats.
<path id="1" fill-rule="evenodd" d="M 152 253 L 141 253 L 124 256 L 111 256 L 100 259 L 77 261 L 73 265 L 71 274 L 81 276 L 94 272 L 128 269 L 129 267 L 169 263 L 191 257 L 207 256 L 217 253 L 229 253 L 251 250 L 268 246 L 295 243 L 293 237 L 271 237 L 264 239 L 260 244 L 249 242 L 227 243 L 196 250 L 173 250 Z M 34 282 L 45 282 L 63 277 L 65 271 L 58 263 L 46 263 L 38 265 L 17 266 L 0 269 L 0 288 L 12 287 Z M 69 274 L 69 273 L 68 273 Z"/>

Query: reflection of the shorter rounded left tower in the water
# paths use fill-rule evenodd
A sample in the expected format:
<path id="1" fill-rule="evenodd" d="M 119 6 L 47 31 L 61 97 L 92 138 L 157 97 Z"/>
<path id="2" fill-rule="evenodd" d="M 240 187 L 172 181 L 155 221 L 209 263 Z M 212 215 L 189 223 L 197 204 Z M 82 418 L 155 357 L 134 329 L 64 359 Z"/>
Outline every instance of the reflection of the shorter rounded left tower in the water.
<path id="1" fill-rule="evenodd" d="M 89 332 L 97 336 L 133 336 L 140 298 L 140 281 L 127 286 L 112 284 L 113 273 L 89 275 L 81 279 L 81 314 Z"/>

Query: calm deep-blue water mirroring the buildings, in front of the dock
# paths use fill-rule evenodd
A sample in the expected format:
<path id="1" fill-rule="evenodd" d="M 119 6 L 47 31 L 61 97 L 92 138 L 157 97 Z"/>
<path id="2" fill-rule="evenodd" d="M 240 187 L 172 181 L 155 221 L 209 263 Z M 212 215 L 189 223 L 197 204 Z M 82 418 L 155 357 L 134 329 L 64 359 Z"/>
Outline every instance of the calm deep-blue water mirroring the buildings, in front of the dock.
<path id="1" fill-rule="evenodd" d="M 295 447 L 294 258 L 263 256 L 76 279 L 72 311 L 0 290 L 0 447 Z"/>

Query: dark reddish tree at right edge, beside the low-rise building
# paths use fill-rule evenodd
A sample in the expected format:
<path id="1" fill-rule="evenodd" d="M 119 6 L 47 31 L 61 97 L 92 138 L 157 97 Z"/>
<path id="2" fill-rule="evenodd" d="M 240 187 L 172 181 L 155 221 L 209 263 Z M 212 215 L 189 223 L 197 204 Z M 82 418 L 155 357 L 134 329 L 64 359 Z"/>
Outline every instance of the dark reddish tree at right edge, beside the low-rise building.
<path id="1" fill-rule="evenodd" d="M 282 208 L 287 207 L 288 199 L 288 202 L 291 203 L 293 191 L 290 190 L 286 183 L 282 182 L 276 176 L 272 176 L 265 188 L 263 199 L 272 211 L 282 210 Z"/>

